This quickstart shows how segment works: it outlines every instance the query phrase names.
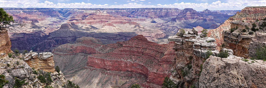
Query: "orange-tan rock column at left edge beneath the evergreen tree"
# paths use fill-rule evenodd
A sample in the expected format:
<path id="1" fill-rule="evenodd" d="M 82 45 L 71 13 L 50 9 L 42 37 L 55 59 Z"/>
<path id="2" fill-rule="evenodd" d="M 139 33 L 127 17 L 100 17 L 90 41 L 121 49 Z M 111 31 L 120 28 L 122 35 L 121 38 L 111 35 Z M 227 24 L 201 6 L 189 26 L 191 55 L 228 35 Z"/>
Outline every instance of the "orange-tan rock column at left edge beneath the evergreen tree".
<path id="1" fill-rule="evenodd" d="M 9 36 L 7 35 L 7 31 L 0 31 L 0 53 L 10 53 L 11 42 Z"/>

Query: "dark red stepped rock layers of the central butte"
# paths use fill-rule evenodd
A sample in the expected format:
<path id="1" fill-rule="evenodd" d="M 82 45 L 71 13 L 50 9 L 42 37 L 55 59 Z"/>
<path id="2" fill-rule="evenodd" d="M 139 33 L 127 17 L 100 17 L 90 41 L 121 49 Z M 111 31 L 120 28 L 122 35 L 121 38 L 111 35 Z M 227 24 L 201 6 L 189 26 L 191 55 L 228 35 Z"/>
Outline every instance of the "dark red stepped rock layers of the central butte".
<path id="1" fill-rule="evenodd" d="M 161 85 L 164 77 L 170 75 L 174 42 L 159 45 L 137 35 L 128 41 L 108 45 L 122 46 L 110 53 L 88 56 L 87 66 L 143 75 L 147 83 L 156 85 Z"/>

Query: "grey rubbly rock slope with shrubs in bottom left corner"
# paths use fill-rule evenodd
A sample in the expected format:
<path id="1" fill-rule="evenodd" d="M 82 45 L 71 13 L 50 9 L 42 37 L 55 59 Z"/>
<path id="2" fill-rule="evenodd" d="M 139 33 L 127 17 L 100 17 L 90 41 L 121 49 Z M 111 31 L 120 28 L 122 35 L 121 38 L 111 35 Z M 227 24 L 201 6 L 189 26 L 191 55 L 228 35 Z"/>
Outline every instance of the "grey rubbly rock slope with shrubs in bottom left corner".
<path id="1" fill-rule="evenodd" d="M 22 59 L 24 55 L 15 55 L 14 58 L 10 57 L 0 57 L 0 75 L 5 76 L 5 80 L 9 81 L 7 84 L 4 84 L 4 88 L 12 88 L 15 84 L 15 79 L 20 81 L 24 80 L 21 87 L 23 88 L 44 88 L 46 86 L 40 79 L 37 77 L 39 75 L 45 75 L 48 72 L 43 70 L 39 70 L 35 72 L 35 69 L 31 68 L 26 62 Z M 43 57 L 46 57 L 43 55 Z M 35 73 L 33 73 L 35 72 Z M 62 86 L 66 85 L 67 81 L 64 77 L 63 73 L 58 72 L 50 72 L 48 73 L 51 77 L 51 86 L 53 88 L 63 88 Z M 17 83 L 17 85 L 20 85 Z"/>

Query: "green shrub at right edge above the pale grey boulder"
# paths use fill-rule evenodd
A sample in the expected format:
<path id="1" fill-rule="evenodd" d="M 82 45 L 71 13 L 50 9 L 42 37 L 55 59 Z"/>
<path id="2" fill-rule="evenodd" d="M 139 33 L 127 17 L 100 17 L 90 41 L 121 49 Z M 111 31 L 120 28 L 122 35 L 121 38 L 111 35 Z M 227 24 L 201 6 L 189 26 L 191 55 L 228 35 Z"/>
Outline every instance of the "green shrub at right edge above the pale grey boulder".
<path id="1" fill-rule="evenodd" d="M 266 60 L 266 45 L 261 45 L 258 49 L 256 49 L 256 53 L 254 55 L 254 59 L 256 60 Z"/>

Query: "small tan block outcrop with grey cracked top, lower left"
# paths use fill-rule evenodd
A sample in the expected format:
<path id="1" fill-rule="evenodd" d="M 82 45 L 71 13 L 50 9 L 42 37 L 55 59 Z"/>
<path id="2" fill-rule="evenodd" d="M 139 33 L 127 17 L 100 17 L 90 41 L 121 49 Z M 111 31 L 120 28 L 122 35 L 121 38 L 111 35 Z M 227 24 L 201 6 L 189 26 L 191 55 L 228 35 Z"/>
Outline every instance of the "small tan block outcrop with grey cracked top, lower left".
<path id="1" fill-rule="evenodd" d="M 50 52 L 35 53 L 30 51 L 26 53 L 23 60 L 35 70 L 43 70 L 46 72 L 54 72 L 53 54 Z"/>

